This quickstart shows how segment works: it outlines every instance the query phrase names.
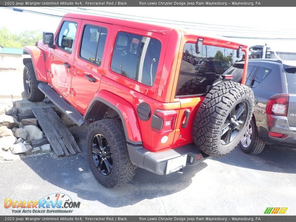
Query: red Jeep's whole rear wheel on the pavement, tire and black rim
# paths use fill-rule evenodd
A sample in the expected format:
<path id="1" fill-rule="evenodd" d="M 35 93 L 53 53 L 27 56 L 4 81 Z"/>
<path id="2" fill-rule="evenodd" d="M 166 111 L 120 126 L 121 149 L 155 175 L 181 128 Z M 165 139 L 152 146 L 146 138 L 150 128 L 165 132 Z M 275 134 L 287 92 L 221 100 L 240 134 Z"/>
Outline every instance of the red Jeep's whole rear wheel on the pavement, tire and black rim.
<path id="1" fill-rule="evenodd" d="M 118 187 L 134 178 L 137 167 L 130 161 L 121 120 L 94 122 L 87 133 L 90 169 L 105 187 Z"/>

